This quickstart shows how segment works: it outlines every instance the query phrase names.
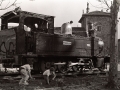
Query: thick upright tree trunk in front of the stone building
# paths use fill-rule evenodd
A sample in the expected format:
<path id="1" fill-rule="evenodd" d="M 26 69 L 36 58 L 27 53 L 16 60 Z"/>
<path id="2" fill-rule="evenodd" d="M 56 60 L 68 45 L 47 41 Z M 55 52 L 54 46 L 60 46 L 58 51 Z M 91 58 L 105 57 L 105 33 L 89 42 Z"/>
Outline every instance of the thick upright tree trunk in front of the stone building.
<path id="1" fill-rule="evenodd" d="M 110 68 L 108 77 L 108 87 L 118 89 L 118 30 L 117 16 L 119 5 L 117 0 L 113 0 L 111 7 L 111 36 L 110 36 Z"/>

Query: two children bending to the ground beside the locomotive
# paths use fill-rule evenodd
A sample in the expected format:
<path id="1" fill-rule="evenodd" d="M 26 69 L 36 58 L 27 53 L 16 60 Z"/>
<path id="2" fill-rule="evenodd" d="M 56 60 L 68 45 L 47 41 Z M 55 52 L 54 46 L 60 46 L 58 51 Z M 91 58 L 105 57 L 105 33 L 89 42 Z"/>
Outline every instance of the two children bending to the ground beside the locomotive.
<path id="1" fill-rule="evenodd" d="M 22 65 L 19 68 L 20 74 L 21 74 L 21 80 L 19 82 L 19 85 L 29 85 L 28 79 L 34 79 L 31 75 L 31 67 L 28 63 Z M 45 82 L 50 85 L 50 81 L 54 80 L 56 78 L 55 69 L 53 66 L 51 66 L 49 69 L 45 70 L 43 72 L 43 77 Z"/>

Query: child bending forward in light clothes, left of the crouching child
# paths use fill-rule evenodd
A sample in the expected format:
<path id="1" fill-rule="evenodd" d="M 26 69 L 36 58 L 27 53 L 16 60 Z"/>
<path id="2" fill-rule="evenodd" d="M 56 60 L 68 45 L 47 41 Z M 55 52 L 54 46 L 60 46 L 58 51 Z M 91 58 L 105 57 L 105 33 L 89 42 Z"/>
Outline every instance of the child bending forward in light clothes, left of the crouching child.
<path id="1" fill-rule="evenodd" d="M 31 76 L 31 67 L 30 65 L 26 62 L 24 65 L 22 65 L 19 68 L 20 74 L 21 74 L 21 80 L 19 81 L 19 85 L 28 85 L 28 79 L 32 79 Z"/>

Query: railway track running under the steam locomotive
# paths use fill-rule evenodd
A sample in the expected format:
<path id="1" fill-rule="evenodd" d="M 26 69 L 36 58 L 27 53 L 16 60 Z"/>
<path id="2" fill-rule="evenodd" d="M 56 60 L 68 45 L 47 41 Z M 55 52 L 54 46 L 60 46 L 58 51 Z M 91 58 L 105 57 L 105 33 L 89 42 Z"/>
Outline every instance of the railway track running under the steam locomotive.
<path id="1" fill-rule="evenodd" d="M 68 73 L 58 73 L 56 72 L 57 74 L 57 78 L 60 78 L 60 77 L 78 77 L 78 76 L 87 76 L 87 75 L 106 75 L 107 72 L 99 72 L 99 71 L 94 71 L 94 72 L 90 72 L 90 71 L 85 71 L 83 73 L 80 73 L 80 72 L 68 72 Z M 32 76 L 33 78 L 35 79 L 43 79 L 43 76 L 42 76 L 42 73 L 39 73 L 39 74 L 35 74 L 35 73 L 32 73 Z M 6 74 L 0 74 L 0 79 L 4 79 L 4 80 L 19 80 L 21 78 L 20 74 L 19 73 L 12 73 L 12 74 L 9 74 L 9 73 L 6 73 Z"/>

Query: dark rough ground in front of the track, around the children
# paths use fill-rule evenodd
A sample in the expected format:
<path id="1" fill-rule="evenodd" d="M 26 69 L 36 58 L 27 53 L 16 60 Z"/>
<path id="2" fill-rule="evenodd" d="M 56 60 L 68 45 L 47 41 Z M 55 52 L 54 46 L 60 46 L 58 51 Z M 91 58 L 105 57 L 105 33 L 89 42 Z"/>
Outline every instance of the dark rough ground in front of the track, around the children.
<path id="1" fill-rule="evenodd" d="M 59 75 L 50 85 L 45 84 L 40 74 L 33 75 L 33 77 L 36 79 L 29 80 L 28 86 L 18 85 L 20 76 L 0 77 L 0 90 L 113 90 L 105 88 L 108 79 L 105 73 L 74 74 L 65 75 L 65 77 Z M 120 86 L 120 71 L 118 72 L 118 85 Z"/>

